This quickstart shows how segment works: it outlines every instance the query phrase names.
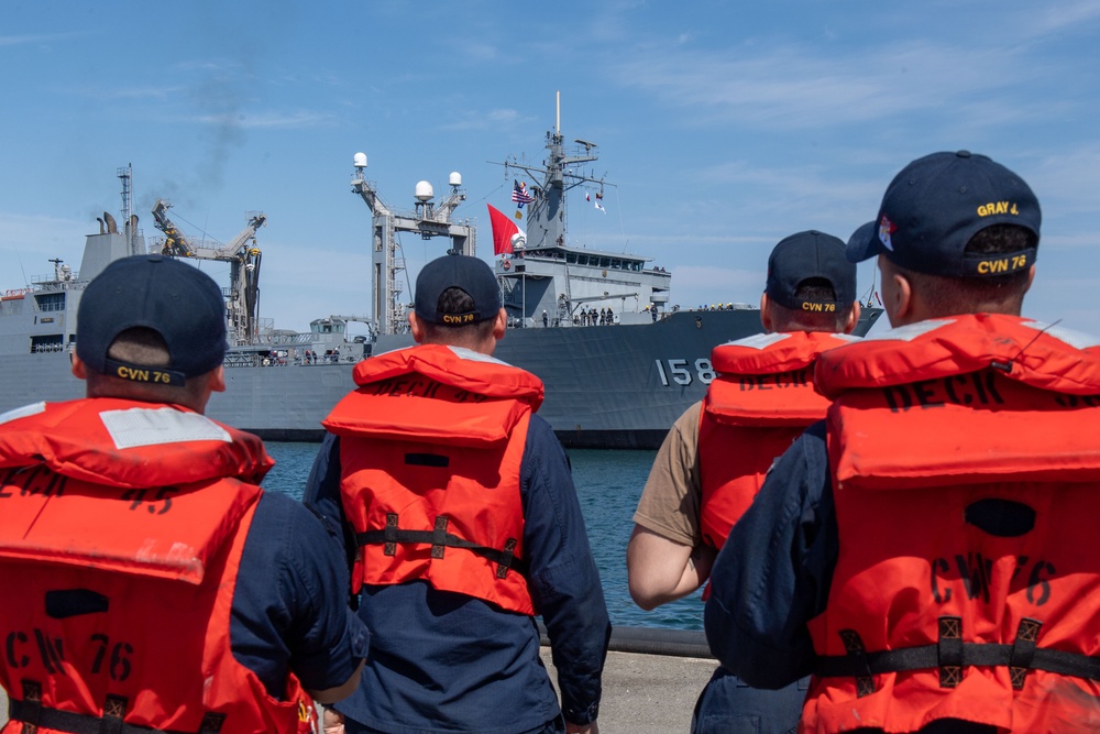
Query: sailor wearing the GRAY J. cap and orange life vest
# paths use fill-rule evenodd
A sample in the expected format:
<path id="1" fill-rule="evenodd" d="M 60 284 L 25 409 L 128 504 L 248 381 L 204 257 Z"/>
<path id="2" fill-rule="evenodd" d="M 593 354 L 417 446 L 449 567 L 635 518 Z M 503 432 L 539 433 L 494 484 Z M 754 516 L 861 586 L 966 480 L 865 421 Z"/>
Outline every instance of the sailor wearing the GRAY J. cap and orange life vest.
<path id="1" fill-rule="evenodd" d="M 1040 221 L 1004 166 L 935 153 L 848 242 L 895 328 L 822 355 L 828 418 L 734 527 L 705 612 L 749 683 L 814 673 L 804 731 L 1097 731 L 1100 348 L 1020 316 Z"/>

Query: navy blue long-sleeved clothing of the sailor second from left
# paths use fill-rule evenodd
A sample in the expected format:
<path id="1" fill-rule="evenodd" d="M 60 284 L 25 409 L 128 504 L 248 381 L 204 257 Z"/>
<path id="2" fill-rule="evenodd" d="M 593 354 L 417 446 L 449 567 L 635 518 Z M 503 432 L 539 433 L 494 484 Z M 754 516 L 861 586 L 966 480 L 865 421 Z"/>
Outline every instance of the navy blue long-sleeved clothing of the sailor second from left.
<path id="1" fill-rule="evenodd" d="M 528 583 L 551 642 L 561 709 L 571 723 L 592 722 L 610 624 L 568 460 L 537 415 L 520 493 Z M 339 438 L 326 438 L 302 501 L 342 524 Z M 564 731 L 532 617 L 422 581 L 364 587 L 359 614 L 372 632 L 371 654 L 359 690 L 336 706 L 349 734 Z"/>

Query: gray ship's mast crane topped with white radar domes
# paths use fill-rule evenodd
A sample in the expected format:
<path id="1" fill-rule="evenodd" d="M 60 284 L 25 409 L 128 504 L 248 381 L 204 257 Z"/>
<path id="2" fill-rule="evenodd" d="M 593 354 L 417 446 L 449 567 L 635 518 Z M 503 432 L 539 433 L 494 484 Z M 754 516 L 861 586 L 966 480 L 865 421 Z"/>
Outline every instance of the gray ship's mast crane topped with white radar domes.
<path id="1" fill-rule="evenodd" d="M 378 196 L 377 186 L 366 180 L 366 154 L 356 153 L 352 174 L 352 194 L 360 197 L 371 208 L 371 309 L 375 317 L 372 331 L 376 335 L 403 333 L 408 330 L 405 306 L 402 303 L 399 274 L 405 270 L 405 258 L 397 242 L 398 232 L 416 232 L 425 240 L 446 237 L 451 240 L 449 254 L 473 255 L 475 250 L 474 227 L 469 220 L 455 221 L 454 209 L 466 198 L 462 189 L 462 176 L 451 173 L 448 184 L 450 193 L 435 201 L 431 184 L 421 180 L 416 185 L 414 211 L 398 212 Z"/>

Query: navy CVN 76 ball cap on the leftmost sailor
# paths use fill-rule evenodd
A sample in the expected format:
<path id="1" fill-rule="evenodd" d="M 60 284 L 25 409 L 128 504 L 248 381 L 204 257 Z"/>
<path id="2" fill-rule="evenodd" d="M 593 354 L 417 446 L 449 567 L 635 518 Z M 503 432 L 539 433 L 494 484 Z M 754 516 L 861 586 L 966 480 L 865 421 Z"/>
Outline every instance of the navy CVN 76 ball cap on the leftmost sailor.
<path id="1" fill-rule="evenodd" d="M 168 348 L 167 365 L 108 357 L 111 342 L 135 327 L 161 335 Z M 226 347 L 221 288 L 206 273 L 177 260 L 163 255 L 116 260 L 92 278 L 80 298 L 76 353 L 100 374 L 180 385 L 220 365 Z"/>

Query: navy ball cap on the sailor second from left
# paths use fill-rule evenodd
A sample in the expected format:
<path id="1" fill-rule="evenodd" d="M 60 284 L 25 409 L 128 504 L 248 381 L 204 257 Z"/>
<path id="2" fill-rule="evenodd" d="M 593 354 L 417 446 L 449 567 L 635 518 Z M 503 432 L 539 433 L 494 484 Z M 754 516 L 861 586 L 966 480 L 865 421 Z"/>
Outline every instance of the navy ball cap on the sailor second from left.
<path id="1" fill-rule="evenodd" d="M 470 296 L 473 307 L 461 314 L 441 311 L 439 299 L 449 288 Z M 501 288 L 493 269 L 470 255 L 443 255 L 424 266 L 416 278 L 416 315 L 422 321 L 463 326 L 496 318 L 501 311 Z"/>

